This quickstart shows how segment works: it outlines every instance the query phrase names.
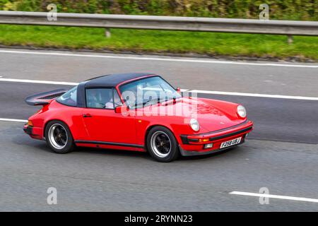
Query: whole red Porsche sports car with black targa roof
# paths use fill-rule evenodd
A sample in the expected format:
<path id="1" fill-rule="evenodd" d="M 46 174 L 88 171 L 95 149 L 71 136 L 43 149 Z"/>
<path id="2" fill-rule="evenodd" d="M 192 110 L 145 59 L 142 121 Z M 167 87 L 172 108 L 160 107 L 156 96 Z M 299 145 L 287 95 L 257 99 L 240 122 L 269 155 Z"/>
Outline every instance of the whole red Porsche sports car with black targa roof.
<path id="1" fill-rule="evenodd" d="M 252 131 L 242 105 L 188 95 L 149 73 L 100 76 L 27 97 L 43 107 L 24 131 L 55 153 L 75 146 L 136 150 L 160 162 L 240 145 Z"/>

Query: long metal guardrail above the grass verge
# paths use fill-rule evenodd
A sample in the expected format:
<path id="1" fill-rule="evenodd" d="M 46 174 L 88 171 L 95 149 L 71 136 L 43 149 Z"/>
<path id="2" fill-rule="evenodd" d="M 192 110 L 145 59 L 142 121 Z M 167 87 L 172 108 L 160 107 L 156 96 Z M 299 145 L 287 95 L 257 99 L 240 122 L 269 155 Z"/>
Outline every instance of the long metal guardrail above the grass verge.
<path id="1" fill-rule="evenodd" d="M 288 35 L 288 37 L 291 37 L 291 35 L 318 36 L 317 21 L 298 20 L 250 20 L 177 16 L 57 13 L 57 20 L 49 21 L 47 19 L 47 13 L 45 12 L 0 11 L 0 23 L 93 28 L 237 32 L 251 34 Z M 109 30 L 107 30 L 107 32 L 109 32 Z M 110 33 L 107 33 L 107 35 L 110 35 Z"/>

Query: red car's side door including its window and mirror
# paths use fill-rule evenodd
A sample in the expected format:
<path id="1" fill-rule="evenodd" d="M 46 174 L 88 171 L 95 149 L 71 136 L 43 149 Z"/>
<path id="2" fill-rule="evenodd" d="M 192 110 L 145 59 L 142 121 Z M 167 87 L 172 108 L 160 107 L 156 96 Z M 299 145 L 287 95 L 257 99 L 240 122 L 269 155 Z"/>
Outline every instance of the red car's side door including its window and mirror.
<path id="1" fill-rule="evenodd" d="M 136 144 L 135 117 L 124 116 L 114 111 L 114 106 L 119 105 L 120 102 L 120 100 L 116 102 L 117 96 L 118 93 L 114 88 L 86 89 L 83 120 L 90 141 L 117 143 L 117 145 Z"/>

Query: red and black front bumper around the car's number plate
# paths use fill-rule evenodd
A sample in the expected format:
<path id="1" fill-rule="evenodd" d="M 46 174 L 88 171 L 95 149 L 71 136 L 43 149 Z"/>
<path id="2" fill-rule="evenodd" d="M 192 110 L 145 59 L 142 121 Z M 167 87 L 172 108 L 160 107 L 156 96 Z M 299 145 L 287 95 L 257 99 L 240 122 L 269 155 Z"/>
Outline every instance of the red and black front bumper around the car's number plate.
<path id="1" fill-rule="evenodd" d="M 245 142 L 245 136 L 253 130 L 253 122 L 245 121 L 242 124 L 231 126 L 219 131 L 210 133 L 200 133 L 196 135 L 181 135 L 182 143 L 179 144 L 179 150 L 183 156 L 208 155 L 221 150 L 232 148 Z M 228 148 L 220 148 L 221 143 L 231 141 L 235 138 L 241 138 L 240 143 L 231 145 Z M 212 148 L 204 148 L 204 145 L 213 143 Z"/>

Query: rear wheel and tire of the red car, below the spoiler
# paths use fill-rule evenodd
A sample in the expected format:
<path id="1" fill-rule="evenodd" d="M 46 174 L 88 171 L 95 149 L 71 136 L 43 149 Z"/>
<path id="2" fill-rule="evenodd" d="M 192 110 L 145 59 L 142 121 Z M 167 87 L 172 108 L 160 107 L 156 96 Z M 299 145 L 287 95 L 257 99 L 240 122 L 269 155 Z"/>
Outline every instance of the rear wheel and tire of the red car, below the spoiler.
<path id="1" fill-rule="evenodd" d="M 69 126 L 63 121 L 49 121 L 45 127 L 45 139 L 54 153 L 65 154 L 71 152 L 74 148 L 73 136 Z"/>

